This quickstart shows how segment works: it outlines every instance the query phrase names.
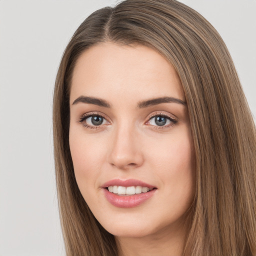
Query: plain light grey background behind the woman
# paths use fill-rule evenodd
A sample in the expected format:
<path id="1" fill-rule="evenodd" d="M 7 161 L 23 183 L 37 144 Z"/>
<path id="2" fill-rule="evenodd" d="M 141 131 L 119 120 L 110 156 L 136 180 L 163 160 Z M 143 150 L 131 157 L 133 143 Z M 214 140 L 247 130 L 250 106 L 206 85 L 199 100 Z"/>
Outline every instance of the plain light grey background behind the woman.
<path id="1" fill-rule="evenodd" d="M 181 1 L 223 37 L 256 116 L 256 0 Z M 0 256 L 64 255 L 52 152 L 54 78 L 77 26 L 116 2 L 0 0 Z"/>

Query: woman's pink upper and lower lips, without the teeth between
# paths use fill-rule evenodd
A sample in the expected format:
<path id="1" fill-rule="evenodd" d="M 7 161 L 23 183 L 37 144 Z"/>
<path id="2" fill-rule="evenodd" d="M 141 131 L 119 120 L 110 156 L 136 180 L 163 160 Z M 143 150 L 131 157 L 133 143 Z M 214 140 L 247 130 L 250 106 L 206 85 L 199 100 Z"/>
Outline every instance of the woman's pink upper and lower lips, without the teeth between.
<path id="1" fill-rule="evenodd" d="M 150 189 L 155 188 L 155 187 L 153 185 L 144 183 L 144 182 L 142 182 L 140 180 L 136 180 L 136 179 L 126 179 L 126 180 L 112 179 L 112 180 L 107 181 L 106 183 L 104 183 L 102 185 L 105 198 L 112 205 L 114 205 L 116 207 L 121 207 L 121 208 L 130 208 L 130 207 L 138 206 L 139 204 L 143 203 L 144 201 L 149 199 L 151 196 L 153 196 L 154 192 L 156 191 L 156 189 L 152 189 L 148 192 L 140 193 L 140 194 L 117 195 L 117 194 L 109 192 L 106 188 L 108 186 L 113 186 L 113 185 L 142 186 L 142 187 L 148 187 Z"/>

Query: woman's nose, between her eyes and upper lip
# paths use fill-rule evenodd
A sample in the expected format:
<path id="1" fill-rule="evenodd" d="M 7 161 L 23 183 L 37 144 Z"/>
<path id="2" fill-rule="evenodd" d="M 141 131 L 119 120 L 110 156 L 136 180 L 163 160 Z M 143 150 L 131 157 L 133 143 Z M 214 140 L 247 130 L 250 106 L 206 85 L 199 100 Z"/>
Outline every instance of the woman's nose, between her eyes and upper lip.
<path id="1" fill-rule="evenodd" d="M 132 169 L 143 164 L 142 145 L 134 127 L 116 127 L 113 132 L 108 162 L 118 169 Z"/>

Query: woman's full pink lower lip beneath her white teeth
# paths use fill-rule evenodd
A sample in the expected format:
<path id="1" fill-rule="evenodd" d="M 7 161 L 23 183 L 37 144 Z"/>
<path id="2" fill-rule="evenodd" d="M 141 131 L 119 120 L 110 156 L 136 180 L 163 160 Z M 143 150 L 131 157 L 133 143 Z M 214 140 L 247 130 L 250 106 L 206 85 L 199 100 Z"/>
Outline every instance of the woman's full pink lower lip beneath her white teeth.
<path id="1" fill-rule="evenodd" d="M 140 193 L 140 194 L 132 194 L 132 195 L 118 195 L 109 192 L 106 188 L 103 188 L 104 195 L 106 199 L 114 206 L 121 208 L 130 208 L 138 206 L 143 203 L 151 196 L 153 196 L 156 189 L 152 189 L 151 191 Z"/>

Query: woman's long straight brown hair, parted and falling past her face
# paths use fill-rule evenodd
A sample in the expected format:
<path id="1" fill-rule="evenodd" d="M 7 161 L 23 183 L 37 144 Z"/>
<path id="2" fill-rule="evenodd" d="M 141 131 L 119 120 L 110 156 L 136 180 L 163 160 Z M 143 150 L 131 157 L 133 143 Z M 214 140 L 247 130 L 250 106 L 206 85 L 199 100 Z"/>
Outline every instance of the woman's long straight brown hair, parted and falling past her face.
<path id="1" fill-rule="evenodd" d="M 88 16 L 63 53 L 54 89 L 53 140 L 67 256 L 117 256 L 75 181 L 69 150 L 69 91 L 77 58 L 113 42 L 155 49 L 176 69 L 187 102 L 196 192 L 183 255 L 256 255 L 256 132 L 235 67 L 216 30 L 176 0 L 125 0 Z"/>

